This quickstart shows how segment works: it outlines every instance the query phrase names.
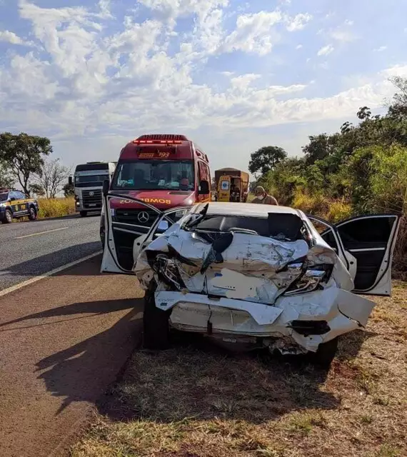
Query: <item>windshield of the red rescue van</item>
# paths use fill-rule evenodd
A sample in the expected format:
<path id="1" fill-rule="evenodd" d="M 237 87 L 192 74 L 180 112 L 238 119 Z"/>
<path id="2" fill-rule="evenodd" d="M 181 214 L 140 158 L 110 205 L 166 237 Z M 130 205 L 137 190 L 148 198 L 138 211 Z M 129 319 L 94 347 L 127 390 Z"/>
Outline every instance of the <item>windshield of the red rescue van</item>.
<path id="1" fill-rule="evenodd" d="M 191 160 L 143 160 L 119 163 L 112 189 L 193 191 L 194 163 Z"/>

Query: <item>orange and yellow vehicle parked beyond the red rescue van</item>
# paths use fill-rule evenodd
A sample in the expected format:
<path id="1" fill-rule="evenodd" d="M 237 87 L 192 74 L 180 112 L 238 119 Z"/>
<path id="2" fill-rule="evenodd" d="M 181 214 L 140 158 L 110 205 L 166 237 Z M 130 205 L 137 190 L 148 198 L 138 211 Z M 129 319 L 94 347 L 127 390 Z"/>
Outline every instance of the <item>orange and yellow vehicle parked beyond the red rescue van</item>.
<path id="1" fill-rule="evenodd" d="M 216 200 L 246 203 L 248 196 L 248 173 L 226 168 L 215 171 Z"/>

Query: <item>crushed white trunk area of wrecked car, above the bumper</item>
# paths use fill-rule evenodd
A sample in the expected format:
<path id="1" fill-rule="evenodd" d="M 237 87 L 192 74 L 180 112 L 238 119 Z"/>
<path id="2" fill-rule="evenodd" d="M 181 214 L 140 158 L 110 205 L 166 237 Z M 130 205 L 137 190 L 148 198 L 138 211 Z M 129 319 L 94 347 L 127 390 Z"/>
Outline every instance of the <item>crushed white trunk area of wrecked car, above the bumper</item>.
<path id="1" fill-rule="evenodd" d="M 332 264 L 332 278 L 337 285 L 346 290 L 353 288 L 346 267 L 323 240 L 310 248 L 304 240 L 279 241 L 236 232 L 231 243 L 216 253 L 213 243 L 201 233 L 174 224 L 141 251 L 136 261 L 134 272 L 144 288 L 155 277 L 159 288 L 171 289 L 171 284 L 157 276 L 154 265 L 159 256 L 171 259 L 166 276 L 171 279 L 175 271 L 182 279 L 173 290 L 186 293 L 273 304 L 300 275 L 298 264 L 290 268 L 295 262 Z"/>

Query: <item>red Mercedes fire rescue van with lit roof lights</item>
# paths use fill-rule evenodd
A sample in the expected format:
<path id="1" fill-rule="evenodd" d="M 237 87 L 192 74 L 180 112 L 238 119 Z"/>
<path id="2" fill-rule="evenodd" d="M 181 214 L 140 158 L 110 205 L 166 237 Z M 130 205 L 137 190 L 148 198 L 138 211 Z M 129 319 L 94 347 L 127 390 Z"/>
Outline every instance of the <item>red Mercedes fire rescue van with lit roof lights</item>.
<path id="1" fill-rule="evenodd" d="M 161 211 L 175 209 L 175 221 L 186 207 L 210 201 L 210 183 L 208 156 L 184 135 L 142 135 L 126 144 L 109 186 L 109 206 L 104 208 L 110 212 L 111 227 L 101 217 L 100 229 L 103 245 L 109 229 L 116 267 L 102 271 L 131 271 L 134 241 L 149 233 Z"/>

